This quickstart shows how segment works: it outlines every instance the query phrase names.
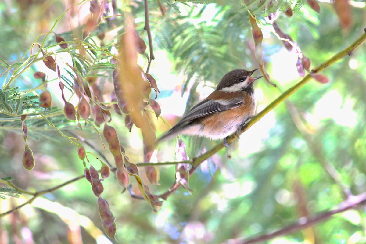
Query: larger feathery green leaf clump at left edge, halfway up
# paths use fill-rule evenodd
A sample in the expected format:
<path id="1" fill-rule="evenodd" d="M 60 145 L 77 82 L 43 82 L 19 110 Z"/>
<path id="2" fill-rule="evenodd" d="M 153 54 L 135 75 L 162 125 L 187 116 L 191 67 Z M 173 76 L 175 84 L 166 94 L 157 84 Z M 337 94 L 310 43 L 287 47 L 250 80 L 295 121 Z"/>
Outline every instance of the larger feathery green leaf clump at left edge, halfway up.
<path id="1" fill-rule="evenodd" d="M 8 116 L 19 116 L 30 110 L 31 113 L 46 113 L 48 109 L 41 107 L 42 103 L 35 101 L 37 95 L 27 95 L 26 92 L 18 91 L 19 87 L 9 90 L 0 89 L 0 113 Z"/>

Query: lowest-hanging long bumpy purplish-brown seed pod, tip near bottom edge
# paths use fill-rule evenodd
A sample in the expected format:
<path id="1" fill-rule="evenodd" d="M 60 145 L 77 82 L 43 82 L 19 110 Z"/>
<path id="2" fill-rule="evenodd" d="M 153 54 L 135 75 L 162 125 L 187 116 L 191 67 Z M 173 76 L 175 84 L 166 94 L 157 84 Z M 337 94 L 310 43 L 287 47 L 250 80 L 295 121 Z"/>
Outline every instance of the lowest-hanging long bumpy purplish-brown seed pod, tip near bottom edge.
<path id="1" fill-rule="evenodd" d="M 109 204 L 106 200 L 104 200 L 101 197 L 98 197 L 97 202 L 103 229 L 109 238 L 115 238 L 117 226 L 114 221 L 116 218 L 113 216 L 111 210 L 109 209 Z"/>

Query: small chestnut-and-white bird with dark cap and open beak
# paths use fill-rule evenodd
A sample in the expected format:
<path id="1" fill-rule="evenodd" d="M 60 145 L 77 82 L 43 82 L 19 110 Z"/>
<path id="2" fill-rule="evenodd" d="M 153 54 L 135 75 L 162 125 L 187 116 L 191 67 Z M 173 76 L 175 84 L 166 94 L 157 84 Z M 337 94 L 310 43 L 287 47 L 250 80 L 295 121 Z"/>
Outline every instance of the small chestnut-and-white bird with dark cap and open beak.
<path id="1" fill-rule="evenodd" d="M 213 140 L 224 139 L 229 147 L 227 136 L 239 131 L 254 116 L 257 100 L 253 83 L 263 76 L 251 77 L 254 71 L 236 69 L 228 72 L 208 97 L 195 105 L 165 135 L 157 140 L 177 135 L 198 135 Z"/>

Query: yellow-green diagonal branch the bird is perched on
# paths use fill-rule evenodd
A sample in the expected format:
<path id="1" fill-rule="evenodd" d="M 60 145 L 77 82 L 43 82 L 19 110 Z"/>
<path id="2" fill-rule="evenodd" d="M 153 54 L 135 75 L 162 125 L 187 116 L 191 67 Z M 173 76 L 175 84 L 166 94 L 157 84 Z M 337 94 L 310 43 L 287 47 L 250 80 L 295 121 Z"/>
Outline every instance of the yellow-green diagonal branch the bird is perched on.
<path id="1" fill-rule="evenodd" d="M 288 90 L 286 90 L 284 93 L 282 93 L 275 101 L 271 102 L 265 109 L 263 109 L 260 113 L 258 113 L 256 116 L 254 116 L 248 123 L 246 123 L 241 131 L 238 133 L 239 135 L 243 132 L 247 131 L 252 125 L 257 123 L 263 116 L 265 116 L 269 111 L 274 109 L 277 105 L 279 105 L 281 102 L 285 101 L 288 97 L 290 97 L 292 94 L 295 93 L 295 91 L 299 90 L 301 87 L 303 87 L 309 80 L 311 80 L 313 73 L 318 73 L 325 68 L 329 67 L 330 65 L 334 64 L 336 61 L 340 60 L 342 57 L 348 55 L 351 55 L 359 46 L 361 46 L 366 41 L 366 28 L 364 29 L 365 33 L 361 35 L 356 41 L 354 41 L 350 46 L 348 46 L 346 49 L 340 51 L 330 59 L 326 60 L 324 63 L 318 65 L 313 70 L 311 70 L 310 74 L 307 74 L 304 78 L 302 78 L 298 83 L 296 83 L 294 86 L 290 87 Z M 227 143 L 230 144 L 236 139 L 236 134 L 232 134 L 231 136 L 228 136 Z M 189 174 L 192 175 L 194 171 L 197 169 L 197 167 L 206 159 L 212 157 L 212 155 L 219 152 L 221 149 L 224 148 L 224 143 L 221 142 L 220 144 L 213 147 L 211 150 L 207 151 L 206 153 L 202 154 L 201 156 L 194 158 L 192 161 L 193 167 L 189 171 Z M 159 195 L 162 199 L 167 199 L 168 196 L 173 194 L 178 188 L 180 187 L 179 184 L 174 183 L 172 187 L 163 194 Z"/>

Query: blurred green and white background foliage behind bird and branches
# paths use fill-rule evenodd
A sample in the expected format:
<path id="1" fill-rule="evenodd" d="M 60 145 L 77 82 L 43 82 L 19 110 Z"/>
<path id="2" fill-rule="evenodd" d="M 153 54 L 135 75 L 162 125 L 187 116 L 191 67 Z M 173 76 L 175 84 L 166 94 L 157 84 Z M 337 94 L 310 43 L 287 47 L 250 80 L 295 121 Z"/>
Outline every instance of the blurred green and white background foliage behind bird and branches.
<path id="1" fill-rule="evenodd" d="M 178 121 L 179 115 L 164 110 L 172 104 L 179 106 L 176 101 L 167 100 L 170 94 L 179 93 L 187 98 L 188 110 L 203 95 L 207 95 L 206 91 L 211 92 L 210 87 L 216 86 L 226 72 L 235 68 L 258 67 L 253 54 L 248 8 L 256 14 L 264 35 L 262 46 L 266 71 L 281 90 L 288 89 L 299 80 L 296 71 L 298 56 L 295 50 L 288 52 L 274 34 L 272 25 L 267 21 L 269 14 L 277 13 L 276 23 L 309 57 L 312 67 L 351 44 L 366 27 L 363 1 L 348 1 L 351 3 L 347 5 L 351 11 L 348 14 L 352 16 L 348 26 L 345 26 L 345 15 L 334 8 L 339 9 L 340 2 L 343 2 L 339 0 L 335 4 L 319 2 L 320 14 L 314 11 L 314 1 L 305 0 L 255 0 L 241 1 L 240 4 L 238 1 L 221 0 L 203 2 L 149 1 L 155 51 L 149 73 L 156 79 L 161 92 L 156 99 L 161 106 L 161 116 L 158 120 L 155 115 L 150 116 L 149 121 L 156 125 L 158 135 L 168 129 L 162 123 L 163 119 L 171 125 Z M 131 12 L 137 34 L 149 46 L 147 33 L 143 30 L 143 1 L 131 1 L 128 6 L 124 5 L 124 1 L 108 3 L 114 15 Z M 116 12 L 112 11 L 113 3 L 116 3 Z M 57 18 L 72 7 L 53 29 L 71 42 L 68 44 L 70 50 L 60 49 L 53 34 L 45 40 L 43 48 L 51 52 L 51 56 L 57 53 L 57 64 L 68 62 L 76 69 L 61 68 L 60 79 L 65 83 L 67 100 L 75 93 L 73 79 L 79 74 L 85 87 L 90 86 L 93 92 L 96 89 L 101 91 L 99 97 L 102 100 L 90 102 L 91 109 L 96 105 L 100 109 L 108 106 L 113 90 L 112 70 L 115 67 L 111 54 L 116 53 L 119 40 L 126 31 L 124 19 L 127 15 L 106 18 L 99 25 L 89 25 L 89 6 L 90 1 L 78 5 L 75 0 L 5 0 L 0 3 L 0 57 L 1 63 L 5 64 L 0 67 L 0 74 L 4 72 L 0 83 L 11 77 L 11 74 L 7 76 L 6 64 L 14 65 L 11 72 L 19 68 L 22 62 L 38 51 L 35 46 L 31 54 L 31 45 L 36 41 L 41 43 Z M 288 6 L 293 10 L 292 17 L 284 14 Z M 347 8 L 344 8 L 343 14 L 347 14 L 346 11 Z M 89 36 L 82 42 L 85 33 Z M 105 37 L 101 38 L 103 34 Z M 41 38 L 37 39 L 38 36 Z M 84 50 L 87 53 L 85 56 L 78 46 L 84 44 L 90 48 Z M 327 68 L 324 75 L 330 80 L 329 83 L 312 80 L 288 99 L 290 105 L 280 104 L 242 134 L 241 140 L 237 140 L 230 149 L 221 150 L 204 162 L 190 177 L 189 186 L 193 191 L 178 189 L 163 202 L 157 214 L 153 213 L 149 204 L 131 198 L 128 192 L 119 194 L 121 188 L 114 177 L 98 181 L 104 186 L 103 199 L 108 201 L 113 213 L 111 216 L 106 211 L 106 215 L 109 219 L 115 218 L 118 242 L 108 239 L 103 232 L 97 197 L 89 182 L 82 179 L 45 194 L 31 205 L 1 218 L 0 243 L 229 243 L 228 239 L 268 233 L 296 222 L 300 217 L 335 208 L 347 200 L 349 194 L 358 195 L 366 189 L 365 51 L 366 47 L 362 45 L 351 56 Z M 61 56 L 63 53 L 72 58 Z M 145 55 L 138 57 L 143 70 L 146 70 L 148 55 L 146 51 Z M 19 86 L 19 92 L 24 92 L 21 96 L 28 95 L 34 99 L 46 89 L 47 86 L 33 73 L 38 70 L 51 71 L 39 63 L 30 62 L 26 70 L 19 70 L 22 73 L 14 80 L 12 87 Z M 169 65 L 173 70 L 167 71 Z M 59 185 L 84 172 L 77 145 L 69 143 L 55 128 L 67 135 L 70 135 L 68 130 L 72 130 L 91 144 L 84 144 L 81 140 L 86 151 L 100 157 L 96 148 L 108 162 L 114 159 L 108 149 L 104 151 L 105 145 L 99 134 L 93 133 L 96 129 L 102 131 L 98 128 L 96 115 L 89 117 L 91 122 L 86 126 L 85 120 L 81 119 L 83 130 L 78 129 L 77 121 L 68 121 L 63 116 L 64 102 L 58 82 L 56 73 L 47 73 L 47 89 L 53 97 L 50 109 L 37 107 L 42 111 L 30 109 L 24 112 L 29 113 L 26 120 L 29 130 L 27 143 L 33 150 L 36 162 L 31 171 L 21 163 L 25 143 L 20 117 L 16 117 L 20 113 L 16 109 L 16 114 L 8 116 L 2 112 L 3 106 L 0 107 L 0 177 L 7 179 L 4 177 L 11 176 L 12 184 L 30 192 Z M 281 94 L 264 81 L 258 81 L 255 90 L 258 112 Z M 1 94 L 9 91 L 1 90 Z M 150 99 L 154 95 L 152 91 Z M 0 99 L 8 101 L 8 98 L 2 99 L 1 96 Z M 78 100 L 69 101 L 76 105 Z M 19 105 L 19 101 L 14 100 L 11 109 L 19 108 Z M 46 115 L 55 127 L 38 114 Z M 296 120 L 296 116 L 300 121 Z M 109 125 L 116 129 L 129 161 L 144 161 L 144 138 L 140 130 L 134 126 L 130 133 L 131 127 L 124 126 L 128 125 L 127 116 L 118 109 L 112 111 L 111 117 Z M 183 139 L 191 158 L 216 143 L 208 140 L 193 143 L 188 138 Z M 100 161 L 90 154 L 87 156 L 94 168 L 99 170 Z M 158 151 L 157 161 L 174 161 L 175 156 L 174 145 L 165 143 Z M 149 179 L 143 167 L 139 170 L 142 181 L 149 186 L 146 192 L 160 194 L 175 182 L 174 166 L 159 167 L 160 185 L 147 184 Z M 134 178 L 131 178 L 131 183 L 132 190 L 138 193 L 139 184 Z M 0 194 L 18 193 L 3 184 L 0 187 L 4 187 Z M 26 194 L 6 200 L 2 196 L 0 213 L 30 199 Z M 365 228 L 365 208 L 361 206 L 268 243 L 364 243 Z"/>

